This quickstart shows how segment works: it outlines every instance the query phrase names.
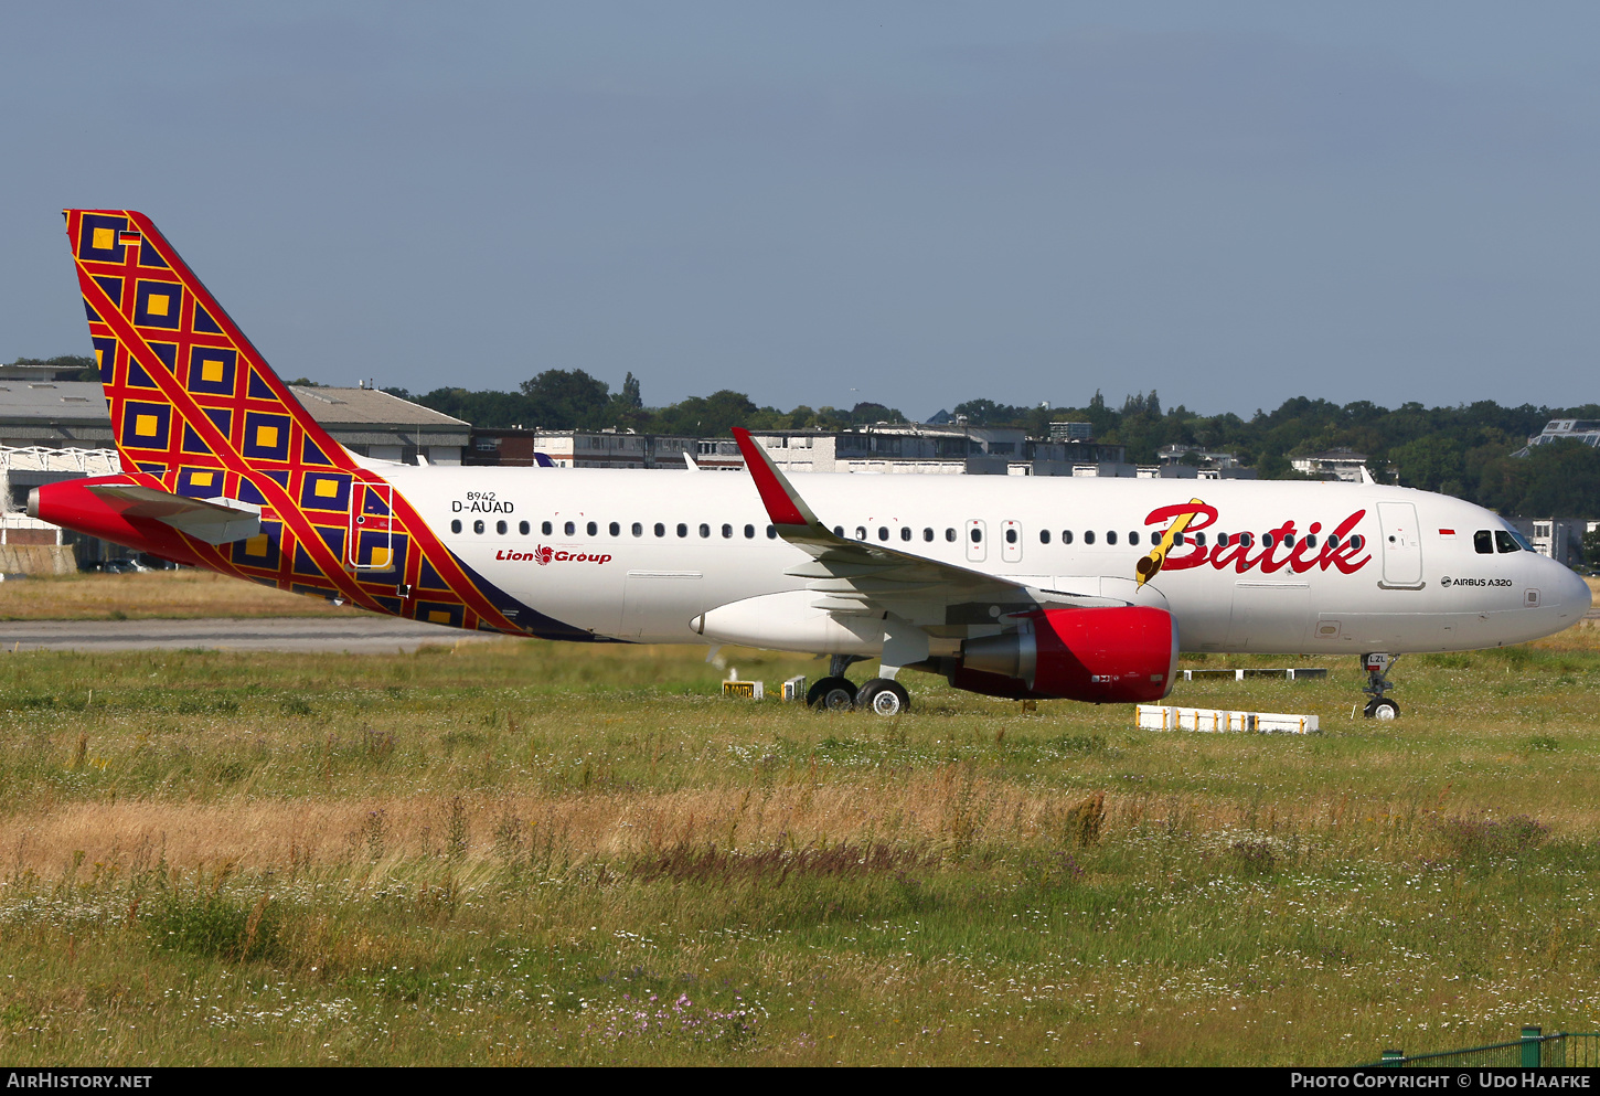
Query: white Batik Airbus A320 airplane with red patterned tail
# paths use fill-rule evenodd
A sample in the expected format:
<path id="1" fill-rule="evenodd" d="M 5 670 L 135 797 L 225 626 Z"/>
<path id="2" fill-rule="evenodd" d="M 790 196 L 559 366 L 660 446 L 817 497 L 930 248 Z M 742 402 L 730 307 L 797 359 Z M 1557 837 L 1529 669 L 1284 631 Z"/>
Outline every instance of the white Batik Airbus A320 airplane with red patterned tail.
<path id="1" fill-rule="evenodd" d="M 123 472 L 29 514 L 240 579 L 506 635 L 830 656 L 808 702 L 878 715 L 910 709 L 906 669 L 1126 704 L 1214 651 L 1358 654 L 1365 714 L 1395 718 L 1397 656 L 1590 605 L 1490 510 L 1370 482 L 786 475 L 747 430 L 747 477 L 362 458 L 149 218 L 66 221 Z"/>

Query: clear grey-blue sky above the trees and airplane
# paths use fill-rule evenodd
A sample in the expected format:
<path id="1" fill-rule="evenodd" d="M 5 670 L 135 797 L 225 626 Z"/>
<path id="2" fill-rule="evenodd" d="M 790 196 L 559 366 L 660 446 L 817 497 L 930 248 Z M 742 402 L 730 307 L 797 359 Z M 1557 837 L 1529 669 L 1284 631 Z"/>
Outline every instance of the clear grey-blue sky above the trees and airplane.
<path id="1" fill-rule="evenodd" d="M 0 3 L 0 360 L 149 214 L 328 384 L 1600 402 L 1600 5 Z"/>

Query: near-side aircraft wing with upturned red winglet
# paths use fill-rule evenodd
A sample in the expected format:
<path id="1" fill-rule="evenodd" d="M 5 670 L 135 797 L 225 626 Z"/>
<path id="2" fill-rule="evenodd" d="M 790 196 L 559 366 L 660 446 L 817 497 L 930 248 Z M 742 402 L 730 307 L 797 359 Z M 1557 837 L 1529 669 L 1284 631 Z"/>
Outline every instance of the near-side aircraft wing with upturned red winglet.
<path id="1" fill-rule="evenodd" d="M 955 621 L 946 619 L 947 606 L 986 603 L 982 622 L 992 624 L 994 619 L 987 613 L 992 605 L 1018 611 L 1043 600 L 1038 590 L 1019 582 L 901 552 L 886 544 L 838 536 L 818 520 L 749 430 L 734 427 L 733 435 L 739 442 L 744 466 L 750 469 L 755 490 L 762 494 L 778 536 L 811 557 L 811 562 L 789 570 L 787 574 L 808 579 L 806 586 L 819 595 L 811 602 L 813 606 L 842 614 L 891 611 L 907 619 L 922 618 L 918 622 L 954 624 Z M 1056 597 L 1074 603 L 1101 602 L 1101 598 Z M 928 610 L 934 606 L 939 613 L 930 619 Z"/>

